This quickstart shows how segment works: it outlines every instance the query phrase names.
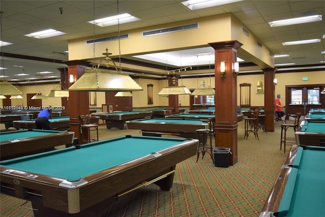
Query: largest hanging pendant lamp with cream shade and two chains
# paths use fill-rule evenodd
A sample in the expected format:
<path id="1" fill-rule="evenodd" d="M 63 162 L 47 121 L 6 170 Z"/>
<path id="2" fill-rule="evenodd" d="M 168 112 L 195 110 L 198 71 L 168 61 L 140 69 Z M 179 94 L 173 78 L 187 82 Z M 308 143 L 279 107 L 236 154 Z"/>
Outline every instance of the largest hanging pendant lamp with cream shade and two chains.
<path id="1" fill-rule="evenodd" d="M 117 0 L 117 16 L 119 15 L 119 3 Z M 95 62 L 95 1 L 93 1 L 93 63 Z M 118 48 L 119 48 L 119 69 L 115 62 L 109 57 L 112 53 L 103 53 L 106 57 L 102 59 L 98 66 L 93 65 L 92 69 L 85 70 L 82 75 L 73 85 L 70 86 L 69 91 L 140 91 L 142 87 L 137 84 L 129 75 L 121 73 L 121 49 L 120 49 L 120 24 L 117 19 L 118 26 Z M 110 67 L 113 63 L 116 72 L 100 69 L 101 62 L 105 60 L 106 67 Z"/>

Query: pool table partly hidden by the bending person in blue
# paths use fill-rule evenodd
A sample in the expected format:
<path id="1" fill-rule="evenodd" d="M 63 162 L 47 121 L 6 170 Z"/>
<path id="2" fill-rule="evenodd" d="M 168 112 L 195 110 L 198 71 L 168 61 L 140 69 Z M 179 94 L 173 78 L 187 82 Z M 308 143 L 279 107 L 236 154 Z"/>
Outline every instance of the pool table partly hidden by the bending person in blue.
<path id="1" fill-rule="evenodd" d="M 16 129 L 36 129 L 36 119 L 13 121 Z M 55 117 L 49 119 L 50 125 L 53 130 L 69 130 L 70 129 L 70 117 Z"/>

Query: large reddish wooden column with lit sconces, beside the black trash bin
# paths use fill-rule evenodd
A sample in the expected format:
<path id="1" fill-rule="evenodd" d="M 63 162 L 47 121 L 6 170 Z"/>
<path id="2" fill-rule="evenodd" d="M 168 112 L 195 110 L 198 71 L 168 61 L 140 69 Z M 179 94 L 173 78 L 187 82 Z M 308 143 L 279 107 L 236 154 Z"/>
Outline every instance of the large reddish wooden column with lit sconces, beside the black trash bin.
<path id="1" fill-rule="evenodd" d="M 230 165 L 238 162 L 237 150 L 237 76 L 234 76 L 234 62 L 237 50 L 242 46 L 238 41 L 209 43 L 215 52 L 215 147 L 230 148 Z M 225 63 L 224 75 L 220 62 Z"/>

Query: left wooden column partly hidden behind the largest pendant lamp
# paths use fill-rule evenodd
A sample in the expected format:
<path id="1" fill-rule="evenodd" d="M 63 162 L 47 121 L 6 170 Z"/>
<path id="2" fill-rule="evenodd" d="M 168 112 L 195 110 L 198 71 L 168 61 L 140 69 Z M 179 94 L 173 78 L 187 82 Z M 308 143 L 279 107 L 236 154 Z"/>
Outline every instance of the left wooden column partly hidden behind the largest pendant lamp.
<path id="1" fill-rule="evenodd" d="M 85 73 L 86 65 L 82 61 L 73 60 L 64 63 L 68 65 L 68 78 L 70 78 L 70 75 L 73 75 L 76 81 Z M 69 87 L 71 85 L 72 84 L 69 83 Z M 75 138 L 78 138 L 79 143 L 81 143 L 82 133 L 80 132 L 80 115 L 89 113 L 89 92 L 69 91 L 69 99 L 67 102 L 70 116 L 70 131 L 75 132 Z"/>

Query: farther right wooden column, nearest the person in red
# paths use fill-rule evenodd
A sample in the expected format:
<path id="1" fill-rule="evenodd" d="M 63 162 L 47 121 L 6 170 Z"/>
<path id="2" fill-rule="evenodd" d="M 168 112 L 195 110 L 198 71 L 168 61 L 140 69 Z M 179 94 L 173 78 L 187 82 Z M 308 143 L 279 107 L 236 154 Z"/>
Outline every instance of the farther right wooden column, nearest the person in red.
<path id="1" fill-rule="evenodd" d="M 275 88 L 274 88 L 274 74 L 277 68 L 264 68 L 264 114 L 265 130 L 267 132 L 274 132 L 274 110 L 275 110 Z"/>

